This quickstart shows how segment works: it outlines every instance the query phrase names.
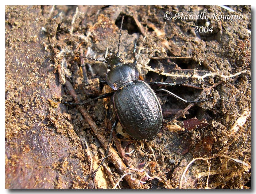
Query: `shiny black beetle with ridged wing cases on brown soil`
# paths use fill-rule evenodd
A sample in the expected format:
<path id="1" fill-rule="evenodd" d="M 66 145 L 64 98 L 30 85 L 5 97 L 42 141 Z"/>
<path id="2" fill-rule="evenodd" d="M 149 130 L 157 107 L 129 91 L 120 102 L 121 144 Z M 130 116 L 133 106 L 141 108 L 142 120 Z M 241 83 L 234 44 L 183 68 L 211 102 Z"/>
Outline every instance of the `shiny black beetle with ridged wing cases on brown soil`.
<path id="1" fill-rule="evenodd" d="M 111 143 L 112 133 L 115 127 L 117 126 L 118 122 L 120 122 L 123 129 L 135 139 L 153 140 L 155 136 L 157 136 L 158 132 L 160 131 L 163 125 L 163 111 L 162 111 L 162 107 L 159 102 L 159 99 L 157 98 L 157 95 L 155 92 L 164 91 L 169 95 L 172 95 L 175 98 L 185 103 L 198 103 L 198 102 L 203 102 L 213 98 L 211 97 L 207 99 L 201 99 L 198 101 L 187 101 L 166 89 L 159 88 L 156 91 L 154 91 L 151 88 L 151 85 L 155 85 L 155 84 L 168 85 L 168 86 L 183 84 L 190 78 L 176 84 L 165 83 L 165 82 L 146 83 L 142 80 L 139 80 L 139 73 L 138 73 L 138 69 L 136 68 L 137 58 L 135 57 L 136 41 L 135 41 L 134 50 L 132 53 L 134 58 L 133 63 L 125 63 L 123 59 L 118 56 L 123 21 L 124 21 L 124 16 L 122 17 L 122 21 L 121 21 L 120 33 L 119 33 L 119 39 L 118 39 L 118 50 L 116 54 L 114 53 L 108 54 L 106 58 L 104 57 L 105 60 L 99 60 L 95 58 L 71 55 L 71 54 L 65 56 L 65 57 L 68 57 L 68 56 L 81 57 L 81 58 L 87 58 L 87 59 L 95 60 L 99 62 L 104 62 L 104 63 L 107 63 L 107 68 L 110 69 L 110 71 L 108 71 L 106 74 L 106 80 L 99 80 L 99 82 L 102 84 L 109 85 L 114 90 L 113 92 L 99 95 L 98 97 L 84 103 L 65 102 L 66 104 L 81 105 L 81 104 L 87 104 L 94 100 L 103 99 L 113 95 L 113 104 L 114 104 L 115 113 L 117 115 L 117 119 L 111 128 L 108 146 L 105 152 L 105 157 L 103 158 L 102 162 L 100 163 L 100 165 L 98 166 L 98 168 L 95 170 L 95 172 L 92 174 L 91 177 L 95 175 L 97 170 L 99 170 L 99 168 L 102 166 L 103 162 L 107 158 L 110 143 Z"/>

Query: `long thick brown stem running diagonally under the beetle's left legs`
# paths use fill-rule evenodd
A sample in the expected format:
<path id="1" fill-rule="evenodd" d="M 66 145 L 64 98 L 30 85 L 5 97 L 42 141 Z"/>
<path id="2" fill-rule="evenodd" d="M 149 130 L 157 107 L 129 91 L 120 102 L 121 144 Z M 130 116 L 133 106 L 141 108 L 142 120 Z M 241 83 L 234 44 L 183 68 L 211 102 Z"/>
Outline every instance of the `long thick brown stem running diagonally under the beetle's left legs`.
<path id="1" fill-rule="evenodd" d="M 72 84 L 68 80 L 66 81 L 65 86 L 68 88 L 68 91 L 69 91 L 70 95 L 72 95 L 75 103 L 79 103 L 76 92 L 75 92 Z M 95 133 L 95 135 L 99 139 L 100 143 L 104 146 L 105 149 L 107 149 L 108 141 L 106 140 L 106 138 L 104 136 L 102 136 L 100 134 L 98 126 L 92 120 L 91 116 L 87 113 L 87 111 L 83 108 L 83 106 L 78 106 L 78 109 L 83 114 L 84 119 L 90 125 L 92 131 Z M 126 167 L 126 165 L 123 163 L 122 159 L 119 157 L 118 153 L 113 149 L 112 146 L 110 146 L 110 148 L 109 148 L 109 155 L 110 155 L 109 157 L 111 158 L 113 164 L 115 165 L 115 167 L 118 169 L 118 171 L 121 174 L 125 174 L 126 172 L 129 171 L 128 168 Z M 132 180 L 130 178 L 130 176 L 126 176 L 125 180 L 127 181 L 128 185 L 131 188 L 139 188 L 139 180 L 138 179 Z"/>

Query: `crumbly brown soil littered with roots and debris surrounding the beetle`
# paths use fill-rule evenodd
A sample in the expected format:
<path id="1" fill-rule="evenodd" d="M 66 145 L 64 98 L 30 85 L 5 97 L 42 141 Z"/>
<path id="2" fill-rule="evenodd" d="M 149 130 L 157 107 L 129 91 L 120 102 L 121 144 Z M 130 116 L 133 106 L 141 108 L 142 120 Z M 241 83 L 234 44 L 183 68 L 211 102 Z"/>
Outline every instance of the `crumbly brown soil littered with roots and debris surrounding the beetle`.
<path id="1" fill-rule="evenodd" d="M 6 188 L 250 188 L 251 8 L 229 6 L 6 6 Z M 165 12 L 208 19 L 164 18 Z M 242 15 L 242 19 L 211 18 Z M 157 93 L 164 112 L 154 140 L 114 131 L 110 92 L 99 84 L 117 52 L 140 79 L 186 83 Z M 195 26 L 212 32 L 196 33 Z M 212 28 L 211 28 L 212 27 Z"/>

